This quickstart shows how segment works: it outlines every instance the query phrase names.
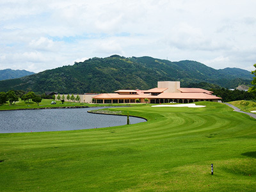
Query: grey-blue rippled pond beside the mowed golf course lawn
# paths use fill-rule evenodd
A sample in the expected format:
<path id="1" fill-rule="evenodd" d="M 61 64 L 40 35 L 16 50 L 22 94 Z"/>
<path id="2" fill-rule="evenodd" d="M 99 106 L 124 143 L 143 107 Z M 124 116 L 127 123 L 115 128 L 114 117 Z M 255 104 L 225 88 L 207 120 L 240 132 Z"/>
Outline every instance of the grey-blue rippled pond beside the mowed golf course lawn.
<path id="1" fill-rule="evenodd" d="M 70 131 L 125 125 L 127 116 L 87 113 L 93 109 L 37 109 L 0 111 L 0 133 Z M 131 124 L 145 122 L 130 116 Z"/>

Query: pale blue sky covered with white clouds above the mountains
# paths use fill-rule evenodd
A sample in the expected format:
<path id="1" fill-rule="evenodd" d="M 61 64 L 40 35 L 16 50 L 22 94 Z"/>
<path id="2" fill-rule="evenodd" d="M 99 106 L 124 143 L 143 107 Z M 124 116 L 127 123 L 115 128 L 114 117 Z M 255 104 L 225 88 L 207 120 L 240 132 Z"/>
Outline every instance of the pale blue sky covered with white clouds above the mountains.
<path id="1" fill-rule="evenodd" d="M 0 0 L 0 70 L 151 56 L 255 70 L 255 0 Z"/>

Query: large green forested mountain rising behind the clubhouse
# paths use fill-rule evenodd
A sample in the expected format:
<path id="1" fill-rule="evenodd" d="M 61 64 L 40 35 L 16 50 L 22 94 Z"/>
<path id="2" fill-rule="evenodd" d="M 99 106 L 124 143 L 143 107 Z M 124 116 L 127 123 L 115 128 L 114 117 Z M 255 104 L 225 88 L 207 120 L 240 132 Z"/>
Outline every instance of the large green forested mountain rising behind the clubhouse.
<path id="1" fill-rule="evenodd" d="M 156 87 L 157 81 L 180 81 L 182 87 L 204 81 L 225 88 L 235 88 L 239 84 L 250 85 L 252 75 L 248 71 L 233 68 L 216 70 L 196 61 L 172 62 L 147 56 L 124 58 L 114 55 L 108 58 L 92 58 L 19 79 L 0 81 L 0 92 L 32 90 L 37 93 L 87 93 L 114 92 L 118 89 L 147 90 Z"/>

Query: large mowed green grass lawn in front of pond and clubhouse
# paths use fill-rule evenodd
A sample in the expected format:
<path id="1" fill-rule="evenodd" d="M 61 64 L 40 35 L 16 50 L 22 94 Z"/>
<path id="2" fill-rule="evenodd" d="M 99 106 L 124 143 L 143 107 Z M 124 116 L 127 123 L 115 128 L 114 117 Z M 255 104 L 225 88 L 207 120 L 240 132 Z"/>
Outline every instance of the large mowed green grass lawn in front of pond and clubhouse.
<path id="1" fill-rule="evenodd" d="M 109 109 L 148 119 L 135 125 L 0 134 L 0 191 L 255 191 L 256 120 L 197 104 Z"/>

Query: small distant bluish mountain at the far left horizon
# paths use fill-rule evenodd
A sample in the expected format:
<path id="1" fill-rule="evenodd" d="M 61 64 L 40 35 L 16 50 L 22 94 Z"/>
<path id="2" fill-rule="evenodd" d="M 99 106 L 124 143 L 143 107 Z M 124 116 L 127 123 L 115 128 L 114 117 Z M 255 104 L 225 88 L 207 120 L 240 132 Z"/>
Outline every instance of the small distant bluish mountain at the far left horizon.
<path id="1" fill-rule="evenodd" d="M 6 68 L 4 70 L 0 70 L 0 81 L 5 79 L 15 79 L 19 77 L 29 76 L 35 74 L 34 72 L 29 72 L 27 70 L 12 70 L 10 68 Z"/>

